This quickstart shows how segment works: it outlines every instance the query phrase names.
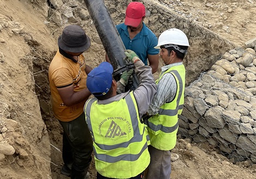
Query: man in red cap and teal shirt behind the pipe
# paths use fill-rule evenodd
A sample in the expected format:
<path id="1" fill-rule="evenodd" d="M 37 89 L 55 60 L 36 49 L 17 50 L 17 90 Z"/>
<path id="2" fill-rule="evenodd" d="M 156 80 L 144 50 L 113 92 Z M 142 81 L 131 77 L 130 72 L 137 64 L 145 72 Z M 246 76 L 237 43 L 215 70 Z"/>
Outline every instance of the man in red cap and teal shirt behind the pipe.
<path id="1" fill-rule="evenodd" d="M 117 25 L 118 33 L 126 49 L 133 50 L 145 65 L 152 68 L 152 73 L 159 66 L 159 49 L 156 35 L 145 25 L 145 7 L 142 3 L 131 2 L 126 9 L 125 22 Z M 108 57 L 106 60 L 109 62 Z"/>

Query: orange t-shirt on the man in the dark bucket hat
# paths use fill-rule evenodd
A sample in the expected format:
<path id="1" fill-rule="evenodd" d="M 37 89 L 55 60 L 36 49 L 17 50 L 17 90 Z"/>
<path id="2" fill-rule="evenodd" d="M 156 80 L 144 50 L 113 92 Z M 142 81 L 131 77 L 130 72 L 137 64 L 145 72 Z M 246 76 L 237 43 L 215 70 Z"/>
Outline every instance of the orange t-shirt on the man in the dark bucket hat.
<path id="1" fill-rule="evenodd" d="M 63 122 L 70 122 L 79 117 L 83 112 L 86 100 L 73 106 L 65 106 L 62 98 L 60 98 L 57 87 L 65 87 L 72 84 L 74 92 L 87 88 L 85 68 L 86 63 L 84 62 L 83 55 L 79 56 L 79 62 L 74 62 L 58 51 L 51 61 L 48 78 L 51 89 L 52 108 L 54 116 Z"/>

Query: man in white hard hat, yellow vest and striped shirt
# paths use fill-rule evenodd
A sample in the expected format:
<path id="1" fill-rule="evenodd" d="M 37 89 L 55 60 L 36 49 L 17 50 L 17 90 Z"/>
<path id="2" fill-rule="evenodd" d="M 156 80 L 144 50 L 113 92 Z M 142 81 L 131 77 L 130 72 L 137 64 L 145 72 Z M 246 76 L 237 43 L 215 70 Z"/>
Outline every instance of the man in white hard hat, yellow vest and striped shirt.
<path id="1" fill-rule="evenodd" d="M 157 92 L 148 110 L 151 117 L 144 121 L 151 142 L 147 179 L 170 178 L 170 150 L 176 145 L 178 115 L 184 104 L 185 67 L 182 60 L 189 46 L 186 34 L 173 28 L 159 36 L 155 47 L 161 48 L 160 57 L 166 66 L 162 67 L 156 80 Z"/>

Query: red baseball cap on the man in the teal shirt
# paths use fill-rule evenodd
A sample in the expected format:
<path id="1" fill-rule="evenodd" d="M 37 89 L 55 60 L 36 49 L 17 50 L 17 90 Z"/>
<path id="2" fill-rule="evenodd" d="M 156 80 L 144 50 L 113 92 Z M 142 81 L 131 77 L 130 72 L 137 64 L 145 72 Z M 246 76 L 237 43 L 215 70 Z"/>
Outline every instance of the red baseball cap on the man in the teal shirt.
<path id="1" fill-rule="evenodd" d="M 145 7 L 142 3 L 131 2 L 126 9 L 125 25 L 138 27 L 142 21 L 142 17 L 146 14 Z"/>

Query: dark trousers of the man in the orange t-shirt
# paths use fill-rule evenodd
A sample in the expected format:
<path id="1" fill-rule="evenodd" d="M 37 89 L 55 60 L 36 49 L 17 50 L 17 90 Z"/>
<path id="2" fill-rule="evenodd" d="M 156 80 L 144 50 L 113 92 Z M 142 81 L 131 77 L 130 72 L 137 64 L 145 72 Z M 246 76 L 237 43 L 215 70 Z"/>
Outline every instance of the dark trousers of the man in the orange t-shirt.
<path id="1" fill-rule="evenodd" d="M 84 113 L 70 122 L 59 123 L 63 127 L 63 162 L 67 167 L 72 166 L 71 178 L 84 178 L 93 152 L 93 140 Z"/>

